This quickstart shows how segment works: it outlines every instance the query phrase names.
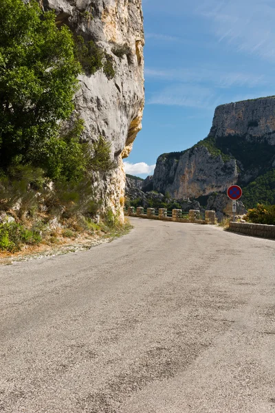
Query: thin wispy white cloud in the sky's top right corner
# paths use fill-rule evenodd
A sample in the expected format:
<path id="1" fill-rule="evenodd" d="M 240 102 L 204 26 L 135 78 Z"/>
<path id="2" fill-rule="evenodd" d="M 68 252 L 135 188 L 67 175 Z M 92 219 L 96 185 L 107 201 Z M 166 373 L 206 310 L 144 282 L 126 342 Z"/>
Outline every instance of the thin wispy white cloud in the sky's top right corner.
<path id="1" fill-rule="evenodd" d="M 275 7 L 270 0 L 206 0 L 197 13 L 211 20 L 219 42 L 275 61 Z"/>

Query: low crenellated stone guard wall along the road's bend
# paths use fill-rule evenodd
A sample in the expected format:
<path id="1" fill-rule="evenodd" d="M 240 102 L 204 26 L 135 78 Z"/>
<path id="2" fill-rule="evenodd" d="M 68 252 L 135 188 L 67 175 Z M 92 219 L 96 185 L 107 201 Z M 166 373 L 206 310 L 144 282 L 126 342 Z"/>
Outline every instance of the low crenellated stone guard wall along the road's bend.
<path id="1" fill-rule="evenodd" d="M 200 211 L 196 209 L 190 209 L 188 213 L 183 213 L 181 209 L 173 209 L 173 211 L 167 211 L 166 208 L 147 208 L 144 213 L 143 207 L 129 207 L 126 215 L 138 218 L 146 218 L 151 220 L 163 220 L 173 222 L 192 222 L 196 224 L 216 224 L 215 211 L 206 211 L 205 219 L 201 220 Z"/>

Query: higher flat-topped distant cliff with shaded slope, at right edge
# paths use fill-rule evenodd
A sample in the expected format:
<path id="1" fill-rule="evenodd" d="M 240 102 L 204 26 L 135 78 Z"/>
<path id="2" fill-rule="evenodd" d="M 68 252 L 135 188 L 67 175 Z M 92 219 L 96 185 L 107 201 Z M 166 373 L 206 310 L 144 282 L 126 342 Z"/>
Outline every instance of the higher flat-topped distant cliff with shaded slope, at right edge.
<path id="1" fill-rule="evenodd" d="M 218 106 L 209 136 L 237 160 L 239 182 L 248 184 L 274 168 L 275 97 Z"/>

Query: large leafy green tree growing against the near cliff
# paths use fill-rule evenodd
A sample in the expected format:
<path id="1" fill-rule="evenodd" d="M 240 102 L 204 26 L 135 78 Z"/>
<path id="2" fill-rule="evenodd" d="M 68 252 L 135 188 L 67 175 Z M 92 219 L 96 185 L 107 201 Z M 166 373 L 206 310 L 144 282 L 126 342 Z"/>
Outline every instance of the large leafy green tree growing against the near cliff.
<path id="1" fill-rule="evenodd" d="M 74 109 L 81 71 L 74 39 L 65 25 L 56 28 L 54 12 L 43 12 L 34 0 L 1 0 L 0 28 L 1 168 L 38 164 L 51 173 L 52 148 L 58 160 L 66 148 L 81 158 L 77 137 L 58 142 L 61 121 Z M 69 162 L 73 159 L 71 152 Z M 56 170 L 52 175 L 58 178 Z"/>

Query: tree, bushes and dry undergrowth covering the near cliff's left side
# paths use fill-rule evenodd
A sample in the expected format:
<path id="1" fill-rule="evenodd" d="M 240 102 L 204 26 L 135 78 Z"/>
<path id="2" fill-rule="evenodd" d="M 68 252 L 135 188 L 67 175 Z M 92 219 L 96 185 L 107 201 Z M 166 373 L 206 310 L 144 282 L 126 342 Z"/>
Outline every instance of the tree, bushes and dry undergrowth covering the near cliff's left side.
<path id="1" fill-rule="evenodd" d="M 91 178 L 114 167 L 109 142 L 84 141 L 74 115 L 83 65 L 108 72 L 109 58 L 87 43 L 83 63 L 72 32 L 55 18 L 34 0 L 0 3 L 0 249 L 9 251 L 55 242 L 49 234 L 58 225 L 67 234 L 89 231 L 100 208 Z M 118 218 L 107 215 L 111 227 Z"/>

